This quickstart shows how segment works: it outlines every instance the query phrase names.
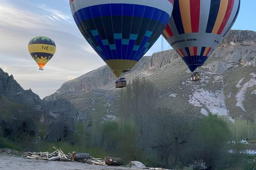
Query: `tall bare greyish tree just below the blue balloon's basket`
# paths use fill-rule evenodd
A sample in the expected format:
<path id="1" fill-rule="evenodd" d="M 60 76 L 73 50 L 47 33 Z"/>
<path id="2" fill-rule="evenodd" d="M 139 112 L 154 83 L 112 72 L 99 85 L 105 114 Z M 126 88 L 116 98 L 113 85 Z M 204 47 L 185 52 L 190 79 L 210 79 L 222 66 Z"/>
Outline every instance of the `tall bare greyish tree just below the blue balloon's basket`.
<path id="1" fill-rule="evenodd" d="M 119 118 L 134 121 L 142 138 L 151 122 L 151 113 L 156 102 L 156 88 L 148 79 L 138 77 L 121 90 Z"/>

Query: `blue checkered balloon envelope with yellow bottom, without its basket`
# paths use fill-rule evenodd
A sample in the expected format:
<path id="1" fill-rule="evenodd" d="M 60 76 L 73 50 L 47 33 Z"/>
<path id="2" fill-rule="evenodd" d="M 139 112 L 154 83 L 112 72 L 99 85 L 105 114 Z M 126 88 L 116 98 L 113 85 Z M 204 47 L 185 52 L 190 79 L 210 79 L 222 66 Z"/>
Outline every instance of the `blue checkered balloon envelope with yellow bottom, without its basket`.
<path id="1" fill-rule="evenodd" d="M 69 2 L 78 29 L 116 78 L 153 46 L 173 8 L 173 0 Z"/>

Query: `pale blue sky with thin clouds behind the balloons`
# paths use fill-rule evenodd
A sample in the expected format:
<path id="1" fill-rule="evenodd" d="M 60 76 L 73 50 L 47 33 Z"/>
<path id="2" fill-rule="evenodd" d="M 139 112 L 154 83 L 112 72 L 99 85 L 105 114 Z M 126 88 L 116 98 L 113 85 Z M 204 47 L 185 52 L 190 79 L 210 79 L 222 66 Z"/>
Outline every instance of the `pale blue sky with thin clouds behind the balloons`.
<path id="1" fill-rule="evenodd" d="M 254 0 L 241 0 L 231 29 L 256 31 L 255 6 Z M 57 46 L 44 71 L 38 70 L 27 47 L 37 36 L 49 37 Z M 0 68 L 41 99 L 57 91 L 62 83 L 105 65 L 79 32 L 69 0 L 0 0 L 0 38 Z M 163 47 L 171 48 L 165 40 Z M 162 36 L 146 56 L 161 50 Z"/>

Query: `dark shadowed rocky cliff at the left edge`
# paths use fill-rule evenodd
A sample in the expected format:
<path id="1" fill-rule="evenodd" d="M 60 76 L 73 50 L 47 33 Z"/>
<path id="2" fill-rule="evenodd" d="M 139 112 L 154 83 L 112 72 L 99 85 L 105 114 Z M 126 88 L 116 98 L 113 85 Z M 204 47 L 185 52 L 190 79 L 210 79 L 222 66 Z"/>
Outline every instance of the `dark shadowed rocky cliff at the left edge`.
<path id="1" fill-rule="evenodd" d="M 2 135 L 6 137 L 17 138 L 17 133 L 25 131 L 22 130 L 24 124 L 33 127 L 29 134 L 42 135 L 42 138 L 52 141 L 62 139 L 67 133 L 75 130 L 78 112 L 69 100 L 58 97 L 48 101 L 42 100 L 31 89 L 24 90 L 12 75 L 9 76 L 2 69 L 0 96 L 0 128 Z M 43 130 L 37 128 L 34 122 L 43 125 Z"/>

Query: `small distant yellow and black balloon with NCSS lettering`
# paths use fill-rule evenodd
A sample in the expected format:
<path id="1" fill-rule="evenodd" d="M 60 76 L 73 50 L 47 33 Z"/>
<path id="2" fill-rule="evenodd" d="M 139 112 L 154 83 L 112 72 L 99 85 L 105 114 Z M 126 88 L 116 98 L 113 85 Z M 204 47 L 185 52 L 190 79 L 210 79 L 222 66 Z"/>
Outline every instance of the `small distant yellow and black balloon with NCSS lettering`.
<path id="1" fill-rule="evenodd" d="M 51 60 L 56 50 L 56 45 L 51 38 L 39 36 L 32 38 L 28 43 L 28 51 L 34 61 L 38 64 L 39 70 Z"/>

